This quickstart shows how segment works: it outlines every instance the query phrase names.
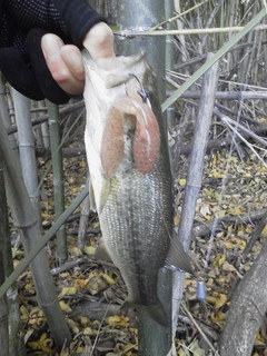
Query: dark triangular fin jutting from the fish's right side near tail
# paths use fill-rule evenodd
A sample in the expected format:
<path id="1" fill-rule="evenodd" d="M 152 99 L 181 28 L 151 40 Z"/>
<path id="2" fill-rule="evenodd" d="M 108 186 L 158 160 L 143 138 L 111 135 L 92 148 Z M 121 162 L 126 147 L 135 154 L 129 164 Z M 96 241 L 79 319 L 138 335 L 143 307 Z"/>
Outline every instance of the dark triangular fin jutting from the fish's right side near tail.
<path id="1" fill-rule="evenodd" d="M 174 238 L 170 244 L 170 248 L 165 260 L 165 267 L 167 268 L 179 268 L 189 274 L 194 275 L 188 255 L 185 253 L 181 243 L 178 238 Z"/>

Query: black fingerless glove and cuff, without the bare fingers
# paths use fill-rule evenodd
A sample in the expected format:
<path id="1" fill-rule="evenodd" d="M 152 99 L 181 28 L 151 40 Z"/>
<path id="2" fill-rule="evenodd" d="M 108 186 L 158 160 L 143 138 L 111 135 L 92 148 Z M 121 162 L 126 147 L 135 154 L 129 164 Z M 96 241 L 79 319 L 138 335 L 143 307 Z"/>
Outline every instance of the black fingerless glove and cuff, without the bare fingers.
<path id="1" fill-rule="evenodd" d="M 69 96 L 52 79 L 41 38 L 51 32 L 81 48 L 86 33 L 101 21 L 87 0 L 0 0 L 0 70 L 24 96 L 63 103 Z"/>

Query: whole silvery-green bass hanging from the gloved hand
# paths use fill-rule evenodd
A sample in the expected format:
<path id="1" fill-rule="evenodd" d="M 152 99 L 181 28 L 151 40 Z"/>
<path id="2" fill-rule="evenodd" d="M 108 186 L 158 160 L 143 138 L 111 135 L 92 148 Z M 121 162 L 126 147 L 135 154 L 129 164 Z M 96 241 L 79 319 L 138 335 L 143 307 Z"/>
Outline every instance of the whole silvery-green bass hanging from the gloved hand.
<path id="1" fill-rule="evenodd" d="M 172 184 L 156 77 L 145 52 L 116 57 L 108 70 L 86 51 L 82 60 L 90 198 L 102 233 L 96 256 L 108 253 L 119 268 L 122 309 L 146 308 L 167 326 L 157 284 L 171 239 Z M 174 255 L 169 267 L 192 271 L 181 245 Z"/>

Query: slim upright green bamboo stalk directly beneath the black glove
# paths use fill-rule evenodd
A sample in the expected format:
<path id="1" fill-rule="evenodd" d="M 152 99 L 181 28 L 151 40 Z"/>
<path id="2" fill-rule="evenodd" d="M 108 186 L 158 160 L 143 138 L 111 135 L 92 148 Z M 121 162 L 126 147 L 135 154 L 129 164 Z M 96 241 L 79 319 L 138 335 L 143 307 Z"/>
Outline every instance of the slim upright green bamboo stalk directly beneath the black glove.
<path id="1" fill-rule="evenodd" d="M 53 170 L 53 204 L 56 219 L 65 210 L 65 181 L 63 181 L 63 164 L 62 150 L 60 147 L 61 135 L 59 123 L 59 108 L 57 105 L 47 100 L 49 127 L 50 127 L 50 141 L 51 141 L 51 157 Z M 68 257 L 68 246 L 66 237 L 66 226 L 62 224 L 57 233 L 57 254 L 60 259 Z"/>

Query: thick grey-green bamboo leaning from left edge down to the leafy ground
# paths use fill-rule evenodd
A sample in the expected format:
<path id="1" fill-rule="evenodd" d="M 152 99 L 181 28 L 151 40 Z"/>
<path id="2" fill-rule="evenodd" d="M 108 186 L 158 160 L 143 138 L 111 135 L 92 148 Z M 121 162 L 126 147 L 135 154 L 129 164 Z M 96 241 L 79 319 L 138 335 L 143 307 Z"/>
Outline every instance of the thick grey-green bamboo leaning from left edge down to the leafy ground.
<path id="1" fill-rule="evenodd" d="M 6 174 L 6 188 L 9 206 L 14 219 L 14 225 L 21 230 L 24 250 L 29 254 L 41 238 L 37 217 L 21 177 L 19 164 L 12 152 L 2 119 L 0 119 L 0 150 L 2 152 Z M 58 346 L 62 347 L 71 335 L 63 313 L 58 303 L 58 295 L 50 275 L 46 253 L 42 249 L 31 263 L 31 274 L 34 281 L 38 301 L 43 309 Z"/>

